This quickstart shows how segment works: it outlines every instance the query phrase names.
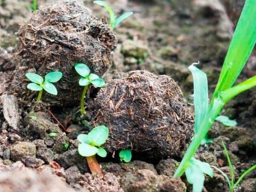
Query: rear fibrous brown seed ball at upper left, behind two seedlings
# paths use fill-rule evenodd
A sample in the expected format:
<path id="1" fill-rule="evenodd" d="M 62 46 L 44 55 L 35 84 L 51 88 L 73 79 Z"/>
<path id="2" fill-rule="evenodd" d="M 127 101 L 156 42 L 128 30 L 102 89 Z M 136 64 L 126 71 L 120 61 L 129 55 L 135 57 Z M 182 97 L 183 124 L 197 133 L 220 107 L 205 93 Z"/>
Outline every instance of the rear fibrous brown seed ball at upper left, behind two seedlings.
<path id="1" fill-rule="evenodd" d="M 44 101 L 56 105 L 73 105 L 79 100 L 82 87 L 78 85 L 75 63 L 86 63 L 91 72 L 102 76 L 111 66 L 117 43 L 109 25 L 76 1 L 42 6 L 20 28 L 18 35 L 14 53 L 17 84 L 12 92 L 24 94 L 28 71 L 44 76 L 59 70 L 63 77 L 55 84 L 58 96 L 43 96 Z"/>

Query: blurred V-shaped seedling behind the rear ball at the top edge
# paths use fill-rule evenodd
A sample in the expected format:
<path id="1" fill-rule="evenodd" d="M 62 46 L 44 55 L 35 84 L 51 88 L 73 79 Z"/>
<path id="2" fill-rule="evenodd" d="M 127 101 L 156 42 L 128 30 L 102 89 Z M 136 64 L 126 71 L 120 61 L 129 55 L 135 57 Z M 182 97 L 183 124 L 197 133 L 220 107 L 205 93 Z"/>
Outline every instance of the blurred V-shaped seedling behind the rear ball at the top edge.
<path id="1" fill-rule="evenodd" d="M 111 9 L 111 7 L 106 2 L 94 1 L 93 3 L 105 7 L 105 9 L 108 11 L 109 17 L 110 17 L 110 26 L 113 30 L 116 28 L 116 26 L 119 23 L 121 23 L 123 20 L 125 20 L 126 18 L 130 17 L 133 14 L 133 12 L 126 12 L 117 18 L 115 12 Z"/>

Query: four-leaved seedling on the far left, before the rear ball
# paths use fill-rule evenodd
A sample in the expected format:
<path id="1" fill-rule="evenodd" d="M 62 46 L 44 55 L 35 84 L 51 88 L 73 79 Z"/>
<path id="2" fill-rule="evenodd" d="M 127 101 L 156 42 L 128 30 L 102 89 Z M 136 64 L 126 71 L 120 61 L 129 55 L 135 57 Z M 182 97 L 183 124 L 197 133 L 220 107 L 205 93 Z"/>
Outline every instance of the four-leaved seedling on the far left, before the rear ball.
<path id="1" fill-rule="evenodd" d="M 53 95 L 58 94 L 56 87 L 52 83 L 58 82 L 61 79 L 62 73 L 60 71 L 50 72 L 45 75 L 45 78 L 34 73 L 27 73 L 26 77 L 33 82 L 29 83 L 27 88 L 32 91 L 39 91 L 37 102 L 41 101 L 43 90 Z"/>

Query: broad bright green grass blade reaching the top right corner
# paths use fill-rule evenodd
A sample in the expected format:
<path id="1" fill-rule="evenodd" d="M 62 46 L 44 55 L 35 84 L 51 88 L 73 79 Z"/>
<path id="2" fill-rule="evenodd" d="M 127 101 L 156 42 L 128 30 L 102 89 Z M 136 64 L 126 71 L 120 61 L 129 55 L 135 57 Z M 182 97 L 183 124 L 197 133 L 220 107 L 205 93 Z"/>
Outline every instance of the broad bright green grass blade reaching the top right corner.
<path id="1" fill-rule="evenodd" d="M 212 102 L 219 92 L 230 88 L 240 75 L 256 42 L 255 0 L 247 0 L 229 45 Z"/>

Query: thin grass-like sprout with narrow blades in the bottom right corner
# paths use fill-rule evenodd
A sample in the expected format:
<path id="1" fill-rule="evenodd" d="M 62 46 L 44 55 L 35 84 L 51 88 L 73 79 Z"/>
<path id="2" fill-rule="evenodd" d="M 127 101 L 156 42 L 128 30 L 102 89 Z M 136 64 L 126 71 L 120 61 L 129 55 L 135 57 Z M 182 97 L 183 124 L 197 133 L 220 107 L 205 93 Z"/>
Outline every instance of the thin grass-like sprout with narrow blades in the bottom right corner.
<path id="1" fill-rule="evenodd" d="M 249 173 L 251 173 L 253 170 L 256 169 L 256 165 L 251 166 L 249 169 L 247 169 L 245 172 L 243 172 L 242 175 L 235 182 L 235 172 L 234 172 L 234 169 L 233 169 L 233 165 L 232 165 L 230 157 L 228 155 L 227 147 L 226 147 L 226 145 L 223 141 L 222 141 L 222 146 L 224 148 L 224 153 L 225 153 L 227 161 L 228 161 L 228 166 L 229 166 L 231 179 L 229 179 L 228 175 L 226 173 L 224 173 L 223 171 L 221 171 L 218 167 L 215 167 L 215 166 L 212 166 L 212 167 L 214 169 L 216 169 L 217 171 L 219 171 L 223 175 L 223 177 L 226 179 L 226 181 L 228 183 L 229 191 L 233 192 L 233 191 L 235 191 L 235 189 L 237 188 L 239 183 L 246 177 L 246 175 L 248 175 Z"/>

